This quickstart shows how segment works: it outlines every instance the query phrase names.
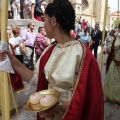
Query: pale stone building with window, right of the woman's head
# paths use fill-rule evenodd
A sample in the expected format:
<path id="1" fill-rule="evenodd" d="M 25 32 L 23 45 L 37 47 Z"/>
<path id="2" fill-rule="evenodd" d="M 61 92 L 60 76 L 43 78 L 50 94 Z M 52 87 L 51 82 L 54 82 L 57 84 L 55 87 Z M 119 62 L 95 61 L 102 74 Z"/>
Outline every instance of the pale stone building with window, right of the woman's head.
<path id="1" fill-rule="evenodd" d="M 105 0 L 70 0 L 76 12 L 76 17 L 86 19 L 94 27 L 95 23 L 103 29 Z M 110 29 L 110 8 L 107 8 L 106 29 Z"/>

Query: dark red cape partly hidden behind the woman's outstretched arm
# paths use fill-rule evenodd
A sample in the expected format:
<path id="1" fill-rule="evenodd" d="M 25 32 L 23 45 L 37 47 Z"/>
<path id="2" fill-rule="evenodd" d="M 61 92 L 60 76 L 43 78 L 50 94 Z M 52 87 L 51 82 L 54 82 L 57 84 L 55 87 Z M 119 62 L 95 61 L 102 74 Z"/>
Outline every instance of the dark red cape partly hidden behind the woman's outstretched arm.
<path id="1" fill-rule="evenodd" d="M 13 56 L 15 56 L 12 45 L 10 43 L 8 43 L 8 44 L 10 45 L 10 47 L 12 49 Z M 15 71 L 15 74 L 10 73 L 9 75 L 10 75 L 10 79 L 11 79 L 12 88 L 14 91 L 19 91 L 19 90 L 24 89 L 23 80 L 16 71 Z"/>

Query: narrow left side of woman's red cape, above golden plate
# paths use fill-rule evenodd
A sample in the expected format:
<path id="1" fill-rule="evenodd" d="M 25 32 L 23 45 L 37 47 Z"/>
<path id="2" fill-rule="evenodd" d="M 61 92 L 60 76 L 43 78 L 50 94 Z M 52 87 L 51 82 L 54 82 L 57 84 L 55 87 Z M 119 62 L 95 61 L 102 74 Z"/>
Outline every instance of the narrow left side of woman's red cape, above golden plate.
<path id="1" fill-rule="evenodd" d="M 39 79 L 38 79 L 38 86 L 37 86 L 37 91 L 45 90 L 48 88 L 48 81 L 45 78 L 44 74 L 44 67 L 54 49 L 54 45 L 47 50 L 47 52 L 42 56 L 40 60 L 40 67 L 39 67 Z M 37 114 L 37 120 L 44 120 L 43 118 L 40 118 L 39 115 Z"/>

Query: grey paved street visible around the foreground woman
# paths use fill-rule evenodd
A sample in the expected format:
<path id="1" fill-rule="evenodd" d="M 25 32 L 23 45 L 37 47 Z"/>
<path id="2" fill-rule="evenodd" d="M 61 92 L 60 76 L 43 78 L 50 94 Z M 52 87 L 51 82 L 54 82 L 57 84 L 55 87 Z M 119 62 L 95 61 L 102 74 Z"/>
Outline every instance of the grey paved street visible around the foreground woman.
<path id="1" fill-rule="evenodd" d="M 99 57 L 100 48 L 98 51 Z M 105 57 L 103 59 L 103 63 L 105 62 Z M 98 58 L 99 63 L 99 58 Z M 105 79 L 105 65 L 103 64 L 102 70 L 102 83 L 104 83 Z M 26 83 L 27 84 L 27 83 Z M 29 96 L 29 95 L 28 95 Z M 25 111 L 22 107 L 24 101 L 28 98 L 28 96 L 24 96 L 24 92 L 18 94 L 18 101 L 19 101 L 19 115 L 14 115 L 11 120 L 36 120 L 35 113 L 29 113 Z M 120 120 L 120 109 L 116 108 L 114 103 L 107 102 L 105 103 L 105 119 L 104 120 Z"/>

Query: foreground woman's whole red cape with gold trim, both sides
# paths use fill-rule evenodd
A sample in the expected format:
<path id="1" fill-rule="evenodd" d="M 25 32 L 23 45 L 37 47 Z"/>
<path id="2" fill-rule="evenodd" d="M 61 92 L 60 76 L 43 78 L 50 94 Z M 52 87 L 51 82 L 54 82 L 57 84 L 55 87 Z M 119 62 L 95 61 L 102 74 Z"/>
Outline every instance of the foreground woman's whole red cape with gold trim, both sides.
<path id="1" fill-rule="evenodd" d="M 104 120 L 104 99 L 99 67 L 91 51 L 84 45 L 82 46 L 84 52 L 80 62 L 78 80 L 63 120 Z M 47 89 L 48 83 L 44 76 L 44 66 L 53 48 L 54 46 L 44 54 L 40 61 L 41 73 L 39 73 L 38 91 Z M 37 120 L 44 119 L 37 115 Z"/>

